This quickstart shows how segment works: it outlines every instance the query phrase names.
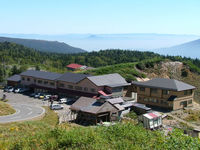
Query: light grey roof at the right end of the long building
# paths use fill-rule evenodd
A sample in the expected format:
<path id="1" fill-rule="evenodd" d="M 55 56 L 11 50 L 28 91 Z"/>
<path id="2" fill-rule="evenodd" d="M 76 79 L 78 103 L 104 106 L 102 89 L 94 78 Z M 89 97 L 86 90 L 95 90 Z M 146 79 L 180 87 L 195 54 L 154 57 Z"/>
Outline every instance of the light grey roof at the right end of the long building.
<path id="1" fill-rule="evenodd" d="M 97 86 L 127 84 L 126 80 L 118 73 L 91 76 L 91 77 L 88 77 L 88 79 L 92 81 L 94 84 L 96 84 Z"/>

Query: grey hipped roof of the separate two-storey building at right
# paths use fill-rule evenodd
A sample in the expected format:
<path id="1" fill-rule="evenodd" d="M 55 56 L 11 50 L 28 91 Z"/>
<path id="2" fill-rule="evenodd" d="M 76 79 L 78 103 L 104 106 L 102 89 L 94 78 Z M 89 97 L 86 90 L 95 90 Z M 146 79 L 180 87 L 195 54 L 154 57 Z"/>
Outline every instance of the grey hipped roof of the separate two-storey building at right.
<path id="1" fill-rule="evenodd" d="M 152 80 L 144 82 L 133 81 L 132 84 L 142 87 L 160 88 L 173 91 L 184 91 L 184 90 L 195 89 L 195 87 L 190 84 L 175 79 L 166 79 L 166 78 L 154 78 Z"/>

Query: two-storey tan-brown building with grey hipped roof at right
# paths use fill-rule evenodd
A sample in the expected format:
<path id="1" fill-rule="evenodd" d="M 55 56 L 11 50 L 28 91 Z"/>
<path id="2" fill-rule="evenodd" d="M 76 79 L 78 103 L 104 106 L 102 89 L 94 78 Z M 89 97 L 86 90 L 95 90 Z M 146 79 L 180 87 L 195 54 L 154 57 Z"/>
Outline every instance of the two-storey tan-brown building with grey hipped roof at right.
<path id="1" fill-rule="evenodd" d="M 174 79 L 155 78 L 132 82 L 131 90 L 137 93 L 137 102 L 147 106 L 177 110 L 193 105 L 195 87 Z"/>

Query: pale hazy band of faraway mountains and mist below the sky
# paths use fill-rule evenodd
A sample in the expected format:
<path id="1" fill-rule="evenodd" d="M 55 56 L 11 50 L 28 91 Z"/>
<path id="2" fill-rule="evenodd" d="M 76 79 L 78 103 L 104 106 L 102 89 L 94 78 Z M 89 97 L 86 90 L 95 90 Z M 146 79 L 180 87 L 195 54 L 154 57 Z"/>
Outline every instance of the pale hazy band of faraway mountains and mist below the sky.
<path id="1" fill-rule="evenodd" d="M 120 34 L 1 34 L 3 37 L 61 41 L 88 51 L 100 49 L 152 50 L 200 39 L 200 35 L 120 33 Z"/>

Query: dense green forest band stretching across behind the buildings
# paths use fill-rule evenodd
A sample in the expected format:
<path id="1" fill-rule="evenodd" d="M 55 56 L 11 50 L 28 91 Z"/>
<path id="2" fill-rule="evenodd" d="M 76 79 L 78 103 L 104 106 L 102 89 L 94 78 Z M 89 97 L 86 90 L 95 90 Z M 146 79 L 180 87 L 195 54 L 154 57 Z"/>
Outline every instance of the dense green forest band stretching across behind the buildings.
<path id="1" fill-rule="evenodd" d="M 119 65 L 123 63 L 137 63 L 138 68 L 144 66 L 150 67 L 155 63 L 169 59 L 172 61 L 181 61 L 187 64 L 192 72 L 200 73 L 200 60 L 191 59 L 180 56 L 163 56 L 153 52 L 142 52 L 132 50 L 120 50 L 120 49 L 108 49 L 100 50 L 98 52 L 85 52 L 78 54 L 60 54 L 41 52 L 35 49 L 27 48 L 22 45 L 18 45 L 10 42 L 0 43 L 0 81 L 3 81 L 5 77 L 12 74 L 20 73 L 27 68 L 37 68 L 37 70 L 47 70 L 52 72 L 66 72 L 66 65 L 70 63 L 78 63 L 81 65 L 87 65 L 91 67 L 108 67 L 107 72 L 112 73 L 109 70 L 116 72 L 116 69 L 112 65 Z M 130 65 L 127 64 L 126 67 Z M 130 67 L 130 66 L 129 66 Z M 120 68 L 118 66 L 118 68 Z M 119 69 L 118 69 L 119 70 Z M 125 74 L 128 70 L 122 70 L 123 76 L 130 75 Z M 118 71 L 119 72 L 119 71 Z M 102 74 L 102 73 L 99 73 Z M 133 70 L 129 70 L 129 74 L 136 74 Z M 133 79 L 131 77 L 130 79 Z"/>

